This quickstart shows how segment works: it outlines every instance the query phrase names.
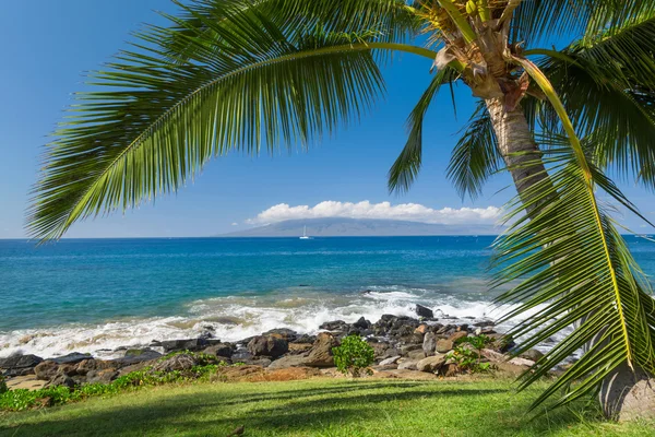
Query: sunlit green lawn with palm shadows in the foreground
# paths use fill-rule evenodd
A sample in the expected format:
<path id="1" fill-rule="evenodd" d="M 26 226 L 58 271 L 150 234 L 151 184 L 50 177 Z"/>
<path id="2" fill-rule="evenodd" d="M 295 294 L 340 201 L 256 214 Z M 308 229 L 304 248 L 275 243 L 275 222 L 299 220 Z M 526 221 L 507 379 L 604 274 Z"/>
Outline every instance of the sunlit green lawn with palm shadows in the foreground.
<path id="1" fill-rule="evenodd" d="M 655 436 L 655 424 L 602 422 L 582 405 L 529 420 L 544 385 L 502 380 L 319 379 L 202 382 L 0 415 L 0 436 Z"/>

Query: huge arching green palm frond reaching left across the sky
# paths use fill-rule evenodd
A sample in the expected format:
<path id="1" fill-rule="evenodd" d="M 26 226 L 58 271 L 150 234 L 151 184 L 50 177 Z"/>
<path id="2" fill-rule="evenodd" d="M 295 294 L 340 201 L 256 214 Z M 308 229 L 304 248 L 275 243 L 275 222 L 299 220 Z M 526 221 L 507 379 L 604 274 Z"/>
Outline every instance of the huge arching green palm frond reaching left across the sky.
<path id="1" fill-rule="evenodd" d="M 212 156 L 307 146 L 357 121 L 384 90 L 373 50 L 434 57 L 381 43 L 376 28 L 354 42 L 323 26 L 281 26 L 235 1 L 218 21 L 199 11 L 217 13 L 223 2 L 193 4 L 186 11 L 211 32 L 184 35 L 187 59 L 172 59 L 167 45 L 178 44 L 180 22 L 152 28 L 92 75 L 98 91 L 76 95 L 47 146 L 28 212 L 33 237 L 58 238 L 78 220 L 176 191 Z"/>

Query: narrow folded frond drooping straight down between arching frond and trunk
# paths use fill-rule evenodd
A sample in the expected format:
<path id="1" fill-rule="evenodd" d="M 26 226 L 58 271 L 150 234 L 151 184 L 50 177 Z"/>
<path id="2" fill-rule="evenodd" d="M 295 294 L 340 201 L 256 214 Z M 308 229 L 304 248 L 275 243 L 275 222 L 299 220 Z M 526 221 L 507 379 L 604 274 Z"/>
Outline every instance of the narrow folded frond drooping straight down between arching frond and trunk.
<path id="1" fill-rule="evenodd" d="M 439 88 L 444 83 L 450 83 L 456 79 L 456 70 L 446 67 L 440 70 L 428 88 L 420 96 L 418 103 L 409 114 L 407 119 L 407 130 L 409 132 L 405 147 L 389 170 L 389 191 L 407 191 L 416 179 L 422 157 L 422 125 L 424 118 Z"/>

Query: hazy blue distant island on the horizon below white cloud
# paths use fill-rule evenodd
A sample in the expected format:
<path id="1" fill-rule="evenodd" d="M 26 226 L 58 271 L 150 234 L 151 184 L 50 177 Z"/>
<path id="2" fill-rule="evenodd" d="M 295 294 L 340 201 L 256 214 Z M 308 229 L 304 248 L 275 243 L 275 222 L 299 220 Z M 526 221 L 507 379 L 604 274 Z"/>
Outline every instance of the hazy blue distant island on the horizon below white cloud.
<path id="1" fill-rule="evenodd" d="M 307 226 L 311 237 L 395 237 L 430 235 L 498 235 L 493 225 L 443 225 L 396 220 L 311 218 L 288 220 L 217 237 L 298 237 Z"/>

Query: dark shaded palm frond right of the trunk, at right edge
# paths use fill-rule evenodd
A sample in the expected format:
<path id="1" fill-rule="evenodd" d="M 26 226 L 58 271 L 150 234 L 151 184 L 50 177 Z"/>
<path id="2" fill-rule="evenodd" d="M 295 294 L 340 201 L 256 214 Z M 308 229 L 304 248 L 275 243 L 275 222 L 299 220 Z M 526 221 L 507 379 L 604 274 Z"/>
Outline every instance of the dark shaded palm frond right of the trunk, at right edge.
<path id="1" fill-rule="evenodd" d="M 596 163 L 655 188 L 655 15 L 559 52 L 535 52 L 546 56 L 540 68 L 580 134 L 594 137 Z M 557 115 L 540 106 L 546 130 L 557 131 Z"/>

